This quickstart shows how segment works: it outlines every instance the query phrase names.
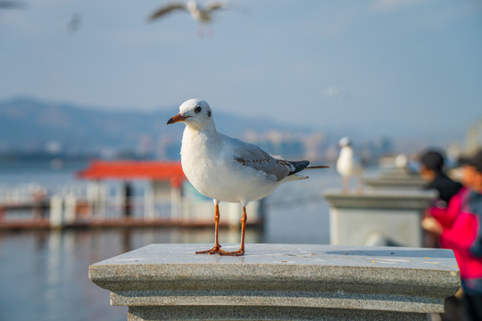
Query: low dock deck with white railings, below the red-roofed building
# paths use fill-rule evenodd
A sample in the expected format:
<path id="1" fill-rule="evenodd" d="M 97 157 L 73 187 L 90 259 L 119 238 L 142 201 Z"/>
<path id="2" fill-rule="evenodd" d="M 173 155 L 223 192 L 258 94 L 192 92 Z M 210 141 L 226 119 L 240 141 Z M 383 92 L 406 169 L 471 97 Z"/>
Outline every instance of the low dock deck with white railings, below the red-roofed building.
<path id="1" fill-rule="evenodd" d="M 69 203 L 71 205 L 69 206 Z M 75 229 L 75 228 L 128 228 L 128 227 L 183 227 L 183 228 L 203 228 L 213 226 L 213 206 L 212 202 L 203 202 L 200 205 L 200 216 L 180 215 L 177 217 L 153 217 L 145 216 L 125 216 L 126 211 L 121 210 L 120 206 L 111 204 L 109 215 L 106 216 L 107 206 L 99 210 L 99 204 L 89 203 L 85 200 L 75 201 L 69 198 L 61 199 L 53 197 L 44 201 L 28 202 L 0 202 L 0 231 L 10 230 L 37 230 L 37 229 Z M 137 204 L 138 205 L 138 204 Z M 225 204 L 228 209 L 224 219 L 220 220 L 220 227 L 237 226 L 236 205 Z M 229 205 L 231 210 L 229 210 Z M 233 207 L 232 205 L 235 205 Z M 125 205 L 124 205 L 125 206 Z M 184 203 L 181 210 L 184 214 L 189 214 L 189 210 L 194 204 Z M 138 207 L 138 206 L 134 206 Z M 209 213 L 212 207 L 212 216 Z M 97 210 L 95 212 L 94 210 Z M 137 209 L 137 212 L 139 210 Z M 13 214 L 12 214 L 13 213 Z M 14 214 L 19 213 L 19 214 Z M 99 213 L 104 213 L 100 215 Z M 241 212 L 238 215 L 241 218 Z M 263 217 L 250 218 L 247 222 L 248 227 L 261 228 Z"/>

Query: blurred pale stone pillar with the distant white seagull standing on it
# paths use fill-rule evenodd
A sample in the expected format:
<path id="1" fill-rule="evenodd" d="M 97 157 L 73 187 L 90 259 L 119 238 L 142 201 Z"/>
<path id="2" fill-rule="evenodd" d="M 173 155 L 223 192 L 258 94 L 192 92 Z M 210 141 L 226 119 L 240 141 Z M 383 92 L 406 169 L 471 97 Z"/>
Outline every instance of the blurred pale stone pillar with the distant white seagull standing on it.
<path id="1" fill-rule="evenodd" d="M 334 245 L 398 245 L 420 247 L 423 211 L 435 191 L 372 191 L 325 193 L 329 238 Z"/>

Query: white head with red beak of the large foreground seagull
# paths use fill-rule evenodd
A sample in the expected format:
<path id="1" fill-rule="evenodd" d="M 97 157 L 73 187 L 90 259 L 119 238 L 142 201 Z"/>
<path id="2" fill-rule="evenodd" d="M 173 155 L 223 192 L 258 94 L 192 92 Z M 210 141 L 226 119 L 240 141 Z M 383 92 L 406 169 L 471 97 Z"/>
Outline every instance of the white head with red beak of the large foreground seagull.
<path id="1" fill-rule="evenodd" d="M 189 99 L 182 103 L 179 106 L 179 114 L 170 118 L 167 124 L 174 124 L 179 121 L 196 130 L 206 128 L 215 130 L 211 107 L 201 99 Z"/>

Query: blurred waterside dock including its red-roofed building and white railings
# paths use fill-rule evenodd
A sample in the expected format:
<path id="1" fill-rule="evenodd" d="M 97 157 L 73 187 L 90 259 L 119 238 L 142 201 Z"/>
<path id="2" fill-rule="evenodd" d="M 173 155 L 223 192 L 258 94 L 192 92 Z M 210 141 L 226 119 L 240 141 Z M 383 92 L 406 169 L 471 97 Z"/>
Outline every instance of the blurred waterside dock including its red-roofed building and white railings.
<path id="1" fill-rule="evenodd" d="M 179 161 L 92 161 L 77 177 L 77 184 L 51 189 L 0 186 L 0 231 L 214 226 L 212 200 L 187 182 Z M 144 187 L 135 187 L 139 180 Z M 247 210 L 247 226 L 262 227 L 262 201 Z M 221 227 L 240 224 L 239 204 L 222 203 L 220 211 Z"/>

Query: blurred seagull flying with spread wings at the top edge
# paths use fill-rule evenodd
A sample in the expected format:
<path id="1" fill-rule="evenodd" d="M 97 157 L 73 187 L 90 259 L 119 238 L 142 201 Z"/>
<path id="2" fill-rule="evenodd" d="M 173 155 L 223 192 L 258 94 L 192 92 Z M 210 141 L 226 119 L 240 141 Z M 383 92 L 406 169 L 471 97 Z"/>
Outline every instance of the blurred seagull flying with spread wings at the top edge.
<path id="1" fill-rule="evenodd" d="M 198 36 L 202 36 L 202 26 L 203 24 L 207 24 L 212 21 L 212 12 L 215 12 L 220 9 L 226 9 L 229 7 L 227 2 L 220 2 L 220 1 L 212 1 L 204 6 L 197 4 L 195 0 L 190 0 L 186 4 L 181 3 L 171 3 L 164 5 L 162 8 L 153 12 L 147 19 L 149 21 L 154 21 L 167 13 L 177 11 L 177 10 L 184 10 L 191 13 L 191 17 L 195 21 L 200 22 L 200 26 L 198 29 Z"/>

